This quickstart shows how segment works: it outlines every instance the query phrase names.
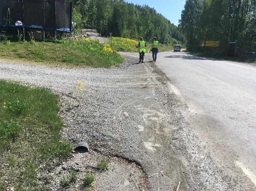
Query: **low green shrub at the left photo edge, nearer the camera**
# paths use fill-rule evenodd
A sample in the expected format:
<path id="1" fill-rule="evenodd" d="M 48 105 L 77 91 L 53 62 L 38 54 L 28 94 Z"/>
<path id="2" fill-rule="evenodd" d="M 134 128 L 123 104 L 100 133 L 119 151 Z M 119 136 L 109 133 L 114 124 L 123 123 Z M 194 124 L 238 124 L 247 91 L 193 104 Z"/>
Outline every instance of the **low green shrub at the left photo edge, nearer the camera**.
<path id="1" fill-rule="evenodd" d="M 0 120 L 0 136 L 7 138 L 16 138 L 22 132 L 18 122 L 13 120 Z"/>

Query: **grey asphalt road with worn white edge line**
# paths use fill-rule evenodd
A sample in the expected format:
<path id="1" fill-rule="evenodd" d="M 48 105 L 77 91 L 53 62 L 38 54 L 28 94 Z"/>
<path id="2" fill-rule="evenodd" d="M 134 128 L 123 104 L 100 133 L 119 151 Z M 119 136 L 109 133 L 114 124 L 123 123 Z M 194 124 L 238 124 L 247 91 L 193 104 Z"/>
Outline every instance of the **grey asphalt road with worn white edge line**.
<path id="1" fill-rule="evenodd" d="M 222 181 L 223 190 L 256 190 L 256 65 L 173 51 L 159 53 L 156 64 L 188 106 L 186 133 L 198 139 L 188 138 L 187 144 L 204 152 L 191 153 L 208 156 L 212 167 L 205 162 L 203 168 L 221 172 L 222 180 L 214 184 Z"/>

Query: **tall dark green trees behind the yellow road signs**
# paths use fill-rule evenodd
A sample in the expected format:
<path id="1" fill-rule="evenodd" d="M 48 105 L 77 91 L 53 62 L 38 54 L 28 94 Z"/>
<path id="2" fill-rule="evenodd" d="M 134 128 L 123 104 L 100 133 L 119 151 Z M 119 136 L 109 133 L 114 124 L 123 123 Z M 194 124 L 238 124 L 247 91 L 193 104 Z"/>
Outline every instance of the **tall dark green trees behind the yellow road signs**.
<path id="1" fill-rule="evenodd" d="M 179 28 L 187 49 L 202 49 L 204 40 L 219 41 L 218 54 L 227 55 L 232 44 L 253 51 L 256 40 L 256 0 L 187 0 Z M 234 46 L 234 45 L 233 45 Z"/>

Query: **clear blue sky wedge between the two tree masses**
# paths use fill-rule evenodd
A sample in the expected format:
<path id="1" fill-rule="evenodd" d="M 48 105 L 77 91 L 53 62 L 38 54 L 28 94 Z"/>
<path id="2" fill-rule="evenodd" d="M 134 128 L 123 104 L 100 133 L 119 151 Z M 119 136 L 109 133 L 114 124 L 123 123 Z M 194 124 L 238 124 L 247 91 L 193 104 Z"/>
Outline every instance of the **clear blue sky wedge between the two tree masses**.
<path id="1" fill-rule="evenodd" d="M 181 18 L 181 11 L 184 9 L 185 0 L 126 0 L 128 3 L 138 5 L 148 5 L 155 8 L 158 13 L 161 13 L 174 25 L 179 24 Z"/>

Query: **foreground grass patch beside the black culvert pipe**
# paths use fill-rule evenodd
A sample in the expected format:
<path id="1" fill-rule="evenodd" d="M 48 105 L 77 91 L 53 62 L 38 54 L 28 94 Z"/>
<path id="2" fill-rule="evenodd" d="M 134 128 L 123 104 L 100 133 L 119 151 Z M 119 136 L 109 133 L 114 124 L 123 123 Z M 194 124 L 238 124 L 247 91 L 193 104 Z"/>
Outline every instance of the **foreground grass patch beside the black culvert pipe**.
<path id="1" fill-rule="evenodd" d="M 0 188 L 48 189 L 38 171 L 50 168 L 53 159 L 60 163 L 72 149 L 60 142 L 59 109 L 57 96 L 46 89 L 0 80 Z"/>

